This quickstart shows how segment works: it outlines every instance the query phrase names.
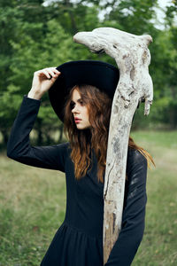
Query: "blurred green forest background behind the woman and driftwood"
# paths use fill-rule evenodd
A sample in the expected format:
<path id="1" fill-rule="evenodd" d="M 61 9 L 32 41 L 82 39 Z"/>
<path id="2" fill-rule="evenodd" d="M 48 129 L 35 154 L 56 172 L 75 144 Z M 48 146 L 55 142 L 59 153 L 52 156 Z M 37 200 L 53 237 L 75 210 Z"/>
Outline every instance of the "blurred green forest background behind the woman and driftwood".
<path id="1" fill-rule="evenodd" d="M 163 1 L 164 2 L 164 1 Z M 135 35 L 149 34 L 150 75 L 154 101 L 148 117 L 143 104 L 132 129 L 177 127 L 177 1 L 166 1 L 163 22 L 157 0 L 1 0 L 0 1 L 0 147 L 6 147 L 23 95 L 36 70 L 70 60 L 98 59 L 116 66 L 105 54 L 93 54 L 73 43 L 78 31 L 115 27 Z M 63 124 L 53 112 L 48 94 L 35 121 L 34 141 L 49 145 L 62 141 Z"/>

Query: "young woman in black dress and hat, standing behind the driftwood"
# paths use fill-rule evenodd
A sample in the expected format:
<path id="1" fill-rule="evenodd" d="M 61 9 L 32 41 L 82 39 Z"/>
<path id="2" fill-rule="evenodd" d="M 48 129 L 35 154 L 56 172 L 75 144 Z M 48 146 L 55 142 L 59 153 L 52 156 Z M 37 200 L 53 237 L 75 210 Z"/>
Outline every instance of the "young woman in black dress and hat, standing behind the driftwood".
<path id="1" fill-rule="evenodd" d="M 116 67 L 100 61 L 72 61 L 36 71 L 12 127 L 7 155 L 38 168 L 65 172 L 66 212 L 41 266 L 103 266 L 104 171 Z M 31 146 L 42 95 L 64 121 L 68 142 Z M 144 231 L 149 153 L 129 137 L 122 228 L 106 266 L 128 266 Z"/>

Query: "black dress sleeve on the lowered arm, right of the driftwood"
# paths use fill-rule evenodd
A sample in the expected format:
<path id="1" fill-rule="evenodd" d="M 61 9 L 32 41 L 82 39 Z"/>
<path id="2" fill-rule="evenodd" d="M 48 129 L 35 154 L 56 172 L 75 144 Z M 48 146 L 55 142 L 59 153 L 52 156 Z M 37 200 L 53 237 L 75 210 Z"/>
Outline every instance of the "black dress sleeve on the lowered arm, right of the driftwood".
<path id="1" fill-rule="evenodd" d="M 147 160 L 137 150 L 127 160 L 122 227 L 105 266 L 131 265 L 145 228 Z"/>

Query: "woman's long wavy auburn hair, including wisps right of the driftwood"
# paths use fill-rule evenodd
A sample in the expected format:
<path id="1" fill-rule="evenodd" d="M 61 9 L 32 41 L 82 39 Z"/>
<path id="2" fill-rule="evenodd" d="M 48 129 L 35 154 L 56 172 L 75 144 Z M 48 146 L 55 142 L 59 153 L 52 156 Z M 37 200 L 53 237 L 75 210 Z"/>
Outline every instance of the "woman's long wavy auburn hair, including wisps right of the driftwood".
<path id="1" fill-rule="evenodd" d="M 73 113 L 71 112 L 73 90 L 79 91 L 84 105 L 88 107 L 91 129 L 77 129 L 75 125 Z M 82 176 L 85 176 L 88 169 L 91 168 L 92 159 L 90 157 L 93 155 L 91 150 L 94 149 L 97 159 L 97 179 L 98 182 L 100 181 L 104 183 L 103 176 L 106 165 L 111 111 L 112 99 L 109 98 L 103 91 L 88 84 L 73 86 L 65 100 L 64 133 L 70 142 L 70 147 L 72 149 L 71 159 L 74 164 L 74 174 L 75 178 L 78 180 Z M 148 161 L 149 168 L 150 160 L 155 166 L 150 153 L 145 151 L 142 147 L 135 145 L 132 137 L 129 137 L 128 146 L 142 153 Z"/>

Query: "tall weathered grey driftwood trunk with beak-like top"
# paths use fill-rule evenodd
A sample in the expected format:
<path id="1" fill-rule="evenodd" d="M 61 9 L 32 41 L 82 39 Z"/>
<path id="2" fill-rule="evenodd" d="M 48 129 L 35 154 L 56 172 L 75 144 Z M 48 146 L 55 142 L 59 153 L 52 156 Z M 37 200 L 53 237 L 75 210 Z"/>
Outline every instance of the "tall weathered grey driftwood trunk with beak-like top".
<path id="1" fill-rule="evenodd" d="M 119 237 L 124 203 L 127 146 L 138 103 L 145 100 L 144 115 L 150 113 L 153 85 L 149 74 L 150 35 L 132 35 L 112 27 L 99 27 L 73 36 L 92 52 L 105 52 L 119 67 L 119 83 L 112 102 L 104 179 L 104 263 Z"/>

